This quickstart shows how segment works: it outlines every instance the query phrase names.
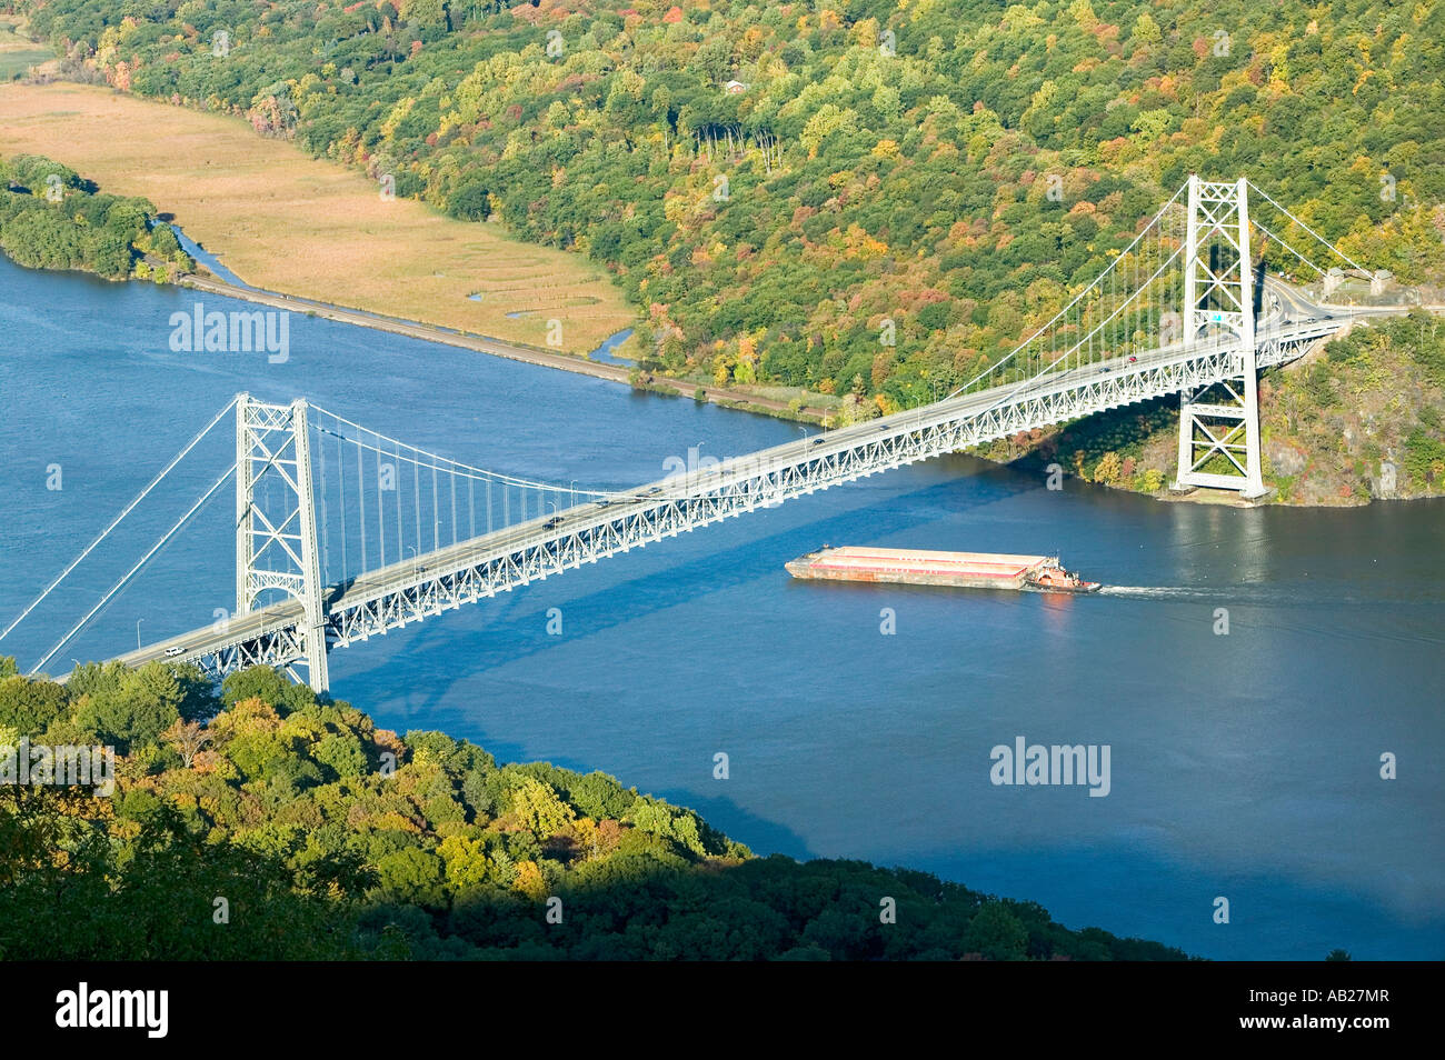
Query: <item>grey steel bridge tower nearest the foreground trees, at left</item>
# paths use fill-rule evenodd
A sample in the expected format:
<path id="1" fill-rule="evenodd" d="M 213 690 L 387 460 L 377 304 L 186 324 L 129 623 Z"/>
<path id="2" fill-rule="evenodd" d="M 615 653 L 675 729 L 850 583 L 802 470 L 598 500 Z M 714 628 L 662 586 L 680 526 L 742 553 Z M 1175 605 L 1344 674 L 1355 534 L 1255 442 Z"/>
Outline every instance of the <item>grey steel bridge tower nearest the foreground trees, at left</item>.
<path id="1" fill-rule="evenodd" d="M 236 399 L 237 617 L 250 614 L 257 598 L 272 591 L 301 601 L 305 608 L 306 679 L 312 689 L 325 692 L 327 608 L 316 553 L 306 401 L 267 404 L 240 394 Z"/>

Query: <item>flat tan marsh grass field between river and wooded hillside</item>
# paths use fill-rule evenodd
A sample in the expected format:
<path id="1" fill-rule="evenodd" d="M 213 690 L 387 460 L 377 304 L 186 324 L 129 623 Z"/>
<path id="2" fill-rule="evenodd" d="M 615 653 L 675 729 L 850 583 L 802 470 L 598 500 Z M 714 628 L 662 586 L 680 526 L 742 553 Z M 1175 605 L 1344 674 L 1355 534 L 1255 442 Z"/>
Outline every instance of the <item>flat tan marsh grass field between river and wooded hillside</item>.
<path id="1" fill-rule="evenodd" d="M 569 352 L 636 319 L 581 256 L 384 201 L 366 175 L 238 118 L 90 85 L 0 84 L 0 155 L 22 153 L 146 196 L 256 287 L 539 347 L 555 319 Z"/>

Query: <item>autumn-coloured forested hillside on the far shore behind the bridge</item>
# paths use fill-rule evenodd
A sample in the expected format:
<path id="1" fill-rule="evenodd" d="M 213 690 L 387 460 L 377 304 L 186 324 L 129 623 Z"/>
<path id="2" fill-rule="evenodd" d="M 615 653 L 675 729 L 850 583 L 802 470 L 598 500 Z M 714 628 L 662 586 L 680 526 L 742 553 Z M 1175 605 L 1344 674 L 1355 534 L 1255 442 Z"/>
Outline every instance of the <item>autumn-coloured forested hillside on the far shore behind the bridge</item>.
<path id="1" fill-rule="evenodd" d="M 69 77 L 605 263 L 647 367 L 842 419 L 971 378 L 1189 172 L 1445 270 L 1435 3 L 12 3 Z"/>

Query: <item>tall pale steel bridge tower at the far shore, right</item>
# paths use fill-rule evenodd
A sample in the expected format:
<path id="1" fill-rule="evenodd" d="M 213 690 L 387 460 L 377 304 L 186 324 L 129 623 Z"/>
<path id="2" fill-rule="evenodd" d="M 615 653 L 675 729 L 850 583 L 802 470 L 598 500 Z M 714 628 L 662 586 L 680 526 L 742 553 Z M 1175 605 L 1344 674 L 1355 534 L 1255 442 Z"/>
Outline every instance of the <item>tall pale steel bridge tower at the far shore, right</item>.
<path id="1" fill-rule="evenodd" d="M 1240 342 L 1228 380 L 1179 393 L 1179 468 L 1173 488 L 1211 487 L 1261 497 L 1259 373 L 1250 263 L 1248 182 L 1189 176 L 1183 266 L 1183 344 L 1233 335 Z M 1227 468 L 1202 471 L 1222 456 Z"/>

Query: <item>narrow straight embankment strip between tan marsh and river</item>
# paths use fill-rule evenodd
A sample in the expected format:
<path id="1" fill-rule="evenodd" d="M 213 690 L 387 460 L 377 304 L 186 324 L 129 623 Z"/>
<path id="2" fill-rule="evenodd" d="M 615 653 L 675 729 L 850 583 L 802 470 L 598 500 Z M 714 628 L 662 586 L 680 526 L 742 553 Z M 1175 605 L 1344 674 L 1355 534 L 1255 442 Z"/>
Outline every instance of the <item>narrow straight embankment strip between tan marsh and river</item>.
<path id="1" fill-rule="evenodd" d="M 795 413 L 786 401 L 759 397 L 738 390 L 728 390 L 727 387 L 676 380 L 670 375 L 655 375 L 647 373 L 643 380 L 637 381 L 633 378 L 633 373 L 640 371 L 640 368 L 592 361 L 587 355 L 581 354 L 555 352 L 522 342 L 509 342 L 506 339 L 493 338 L 491 335 L 473 335 L 434 323 L 406 321 L 396 316 L 381 316 L 363 309 L 348 309 L 345 306 L 262 290 L 259 287 L 241 287 L 214 276 L 201 276 L 199 273 L 186 273 L 181 276 L 178 286 L 221 297 L 234 297 L 241 302 L 254 302 L 257 305 L 286 312 L 303 312 L 311 316 L 319 316 L 340 323 L 351 323 L 360 328 L 386 331 L 393 335 L 422 339 L 423 342 L 442 342 L 445 345 L 471 349 L 478 354 L 504 357 L 510 361 L 520 361 L 523 364 L 536 364 L 543 368 L 558 368 L 561 371 L 571 371 L 579 375 L 591 375 L 592 378 L 605 380 L 608 383 L 621 383 L 633 390 L 673 394 L 692 400 L 696 400 L 696 391 L 701 390 L 704 400 L 712 404 L 738 409 L 741 412 L 756 412 L 769 416 L 776 413 L 789 413 L 793 419 L 811 423 L 819 423 L 822 417 L 828 414 L 827 409 L 814 409 L 808 406 L 803 406 Z"/>

